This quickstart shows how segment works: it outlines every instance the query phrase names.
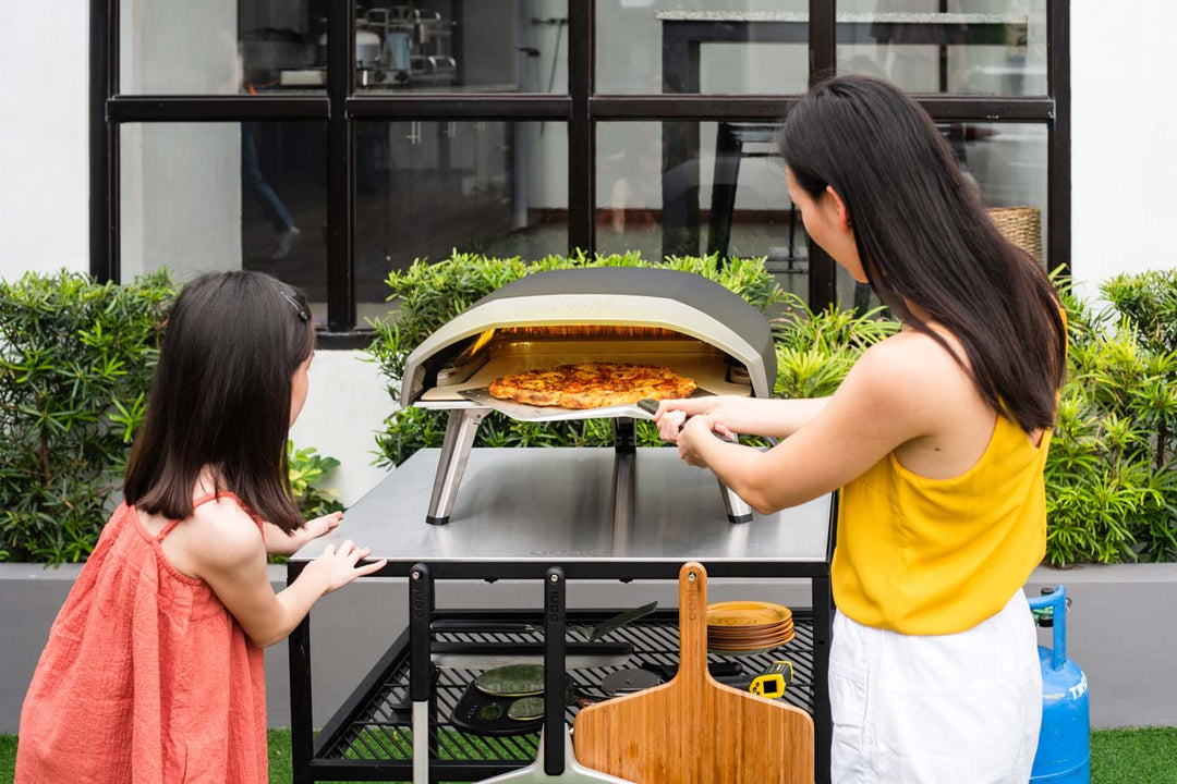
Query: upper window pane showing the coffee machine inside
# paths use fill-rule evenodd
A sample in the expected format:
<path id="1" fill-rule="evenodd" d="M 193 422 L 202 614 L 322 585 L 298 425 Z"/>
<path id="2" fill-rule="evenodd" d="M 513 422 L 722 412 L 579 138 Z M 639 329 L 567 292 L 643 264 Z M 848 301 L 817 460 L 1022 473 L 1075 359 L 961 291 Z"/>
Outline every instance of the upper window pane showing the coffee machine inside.
<path id="1" fill-rule="evenodd" d="M 567 0 L 421 0 L 360 9 L 355 86 L 567 93 Z"/>

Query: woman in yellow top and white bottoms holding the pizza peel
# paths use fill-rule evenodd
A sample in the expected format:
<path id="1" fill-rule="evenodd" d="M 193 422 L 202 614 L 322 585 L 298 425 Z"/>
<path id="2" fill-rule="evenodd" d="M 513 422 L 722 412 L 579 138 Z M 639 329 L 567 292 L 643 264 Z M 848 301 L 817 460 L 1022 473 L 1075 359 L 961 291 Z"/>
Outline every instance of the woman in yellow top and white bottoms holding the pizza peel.
<path id="1" fill-rule="evenodd" d="M 1046 542 L 1058 301 L 899 89 L 825 82 L 780 152 L 810 237 L 904 329 L 832 397 L 670 401 L 659 431 L 765 514 L 842 488 L 833 782 L 1024 784 L 1042 682 L 1022 585 Z M 712 430 L 784 440 L 759 451 Z"/>

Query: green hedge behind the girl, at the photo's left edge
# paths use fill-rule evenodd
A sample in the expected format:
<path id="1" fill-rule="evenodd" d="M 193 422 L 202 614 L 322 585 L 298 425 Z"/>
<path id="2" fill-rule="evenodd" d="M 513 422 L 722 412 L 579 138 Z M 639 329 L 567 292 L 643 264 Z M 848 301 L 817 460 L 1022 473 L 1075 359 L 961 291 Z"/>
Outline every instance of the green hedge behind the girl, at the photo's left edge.
<path id="1" fill-rule="evenodd" d="M 0 281 L 0 561 L 82 561 L 121 485 L 175 286 L 61 272 Z M 314 485 L 338 464 L 291 447 L 306 516 L 338 508 Z"/>

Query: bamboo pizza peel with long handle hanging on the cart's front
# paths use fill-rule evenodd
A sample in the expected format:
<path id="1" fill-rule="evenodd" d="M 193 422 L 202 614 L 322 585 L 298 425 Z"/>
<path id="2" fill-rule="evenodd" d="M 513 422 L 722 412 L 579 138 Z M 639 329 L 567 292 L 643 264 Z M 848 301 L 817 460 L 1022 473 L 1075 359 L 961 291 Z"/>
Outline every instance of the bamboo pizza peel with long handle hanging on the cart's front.
<path id="1" fill-rule="evenodd" d="M 707 572 L 679 571 L 678 675 L 590 705 L 573 735 L 580 764 L 639 784 L 812 784 L 813 719 L 707 672 Z"/>

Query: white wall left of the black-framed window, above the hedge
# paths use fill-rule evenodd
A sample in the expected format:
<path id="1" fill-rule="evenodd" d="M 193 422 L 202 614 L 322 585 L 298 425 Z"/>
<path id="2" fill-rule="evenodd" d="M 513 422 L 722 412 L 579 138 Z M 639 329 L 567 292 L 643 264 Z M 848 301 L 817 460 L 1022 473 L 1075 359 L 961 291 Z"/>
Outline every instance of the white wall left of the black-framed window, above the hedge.
<path id="1" fill-rule="evenodd" d="M 89 266 L 89 2 L 0 2 L 0 276 Z"/>

